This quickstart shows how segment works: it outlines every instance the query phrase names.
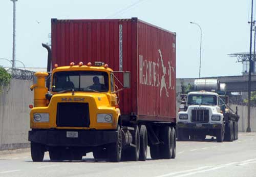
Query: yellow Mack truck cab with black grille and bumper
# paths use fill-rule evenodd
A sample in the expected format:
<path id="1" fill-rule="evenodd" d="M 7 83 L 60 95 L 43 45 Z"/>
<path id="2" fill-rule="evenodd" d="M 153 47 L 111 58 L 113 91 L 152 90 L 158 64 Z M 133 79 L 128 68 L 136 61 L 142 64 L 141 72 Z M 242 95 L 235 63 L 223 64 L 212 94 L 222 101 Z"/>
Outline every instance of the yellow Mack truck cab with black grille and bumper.
<path id="1" fill-rule="evenodd" d="M 34 90 L 29 131 L 33 161 L 42 161 L 45 151 L 51 160 L 80 160 L 90 151 L 100 156 L 106 148 L 111 151 L 104 154 L 119 161 L 121 113 L 113 70 L 102 62 L 55 65 L 50 91 L 45 87 L 48 73 L 35 76 L 37 82 L 30 88 Z M 123 81 L 122 89 L 130 86 L 129 73 L 124 73 Z"/>

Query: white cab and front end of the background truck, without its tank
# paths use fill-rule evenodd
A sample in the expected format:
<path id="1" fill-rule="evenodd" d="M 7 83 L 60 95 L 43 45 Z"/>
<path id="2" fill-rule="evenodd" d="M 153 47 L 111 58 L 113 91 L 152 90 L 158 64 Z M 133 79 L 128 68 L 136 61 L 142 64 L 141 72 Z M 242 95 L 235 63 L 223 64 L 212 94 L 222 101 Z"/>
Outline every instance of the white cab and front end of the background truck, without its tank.
<path id="1" fill-rule="evenodd" d="M 206 82 L 206 79 L 204 80 Z M 189 92 L 178 113 L 177 138 L 182 141 L 188 140 L 191 136 L 204 139 L 206 135 L 210 135 L 217 137 L 218 142 L 222 142 L 226 124 L 229 123 L 229 115 L 226 103 L 218 93 L 204 90 Z M 236 132 L 234 125 L 235 123 L 232 124 L 233 131 L 229 130 L 230 134 Z"/>

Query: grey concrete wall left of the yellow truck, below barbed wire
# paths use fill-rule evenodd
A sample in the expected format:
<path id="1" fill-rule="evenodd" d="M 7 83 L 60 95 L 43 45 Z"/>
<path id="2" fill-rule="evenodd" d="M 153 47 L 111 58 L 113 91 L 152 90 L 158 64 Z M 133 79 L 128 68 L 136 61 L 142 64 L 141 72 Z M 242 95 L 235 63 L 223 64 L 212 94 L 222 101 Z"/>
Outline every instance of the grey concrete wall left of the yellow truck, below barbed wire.
<path id="1" fill-rule="evenodd" d="M 0 94 L 0 150 L 29 147 L 29 104 L 33 104 L 30 80 L 12 79 Z"/>

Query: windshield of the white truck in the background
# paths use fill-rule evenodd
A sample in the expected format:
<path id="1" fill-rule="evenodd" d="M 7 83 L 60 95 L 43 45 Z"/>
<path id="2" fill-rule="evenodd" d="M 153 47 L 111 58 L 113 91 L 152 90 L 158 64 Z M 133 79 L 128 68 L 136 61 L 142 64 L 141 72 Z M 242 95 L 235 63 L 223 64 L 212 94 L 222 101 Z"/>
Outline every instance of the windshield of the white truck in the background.
<path id="1" fill-rule="evenodd" d="M 188 95 L 187 104 L 217 105 L 217 97 L 215 95 Z"/>

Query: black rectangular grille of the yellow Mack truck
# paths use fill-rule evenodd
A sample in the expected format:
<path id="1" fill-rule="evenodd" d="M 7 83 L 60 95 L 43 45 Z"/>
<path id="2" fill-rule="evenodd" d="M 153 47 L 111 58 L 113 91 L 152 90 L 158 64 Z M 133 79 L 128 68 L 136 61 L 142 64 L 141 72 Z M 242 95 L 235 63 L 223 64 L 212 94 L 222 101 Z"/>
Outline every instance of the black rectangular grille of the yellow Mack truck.
<path id="1" fill-rule="evenodd" d="M 60 127 L 89 127 L 89 104 L 58 103 L 56 124 Z"/>

